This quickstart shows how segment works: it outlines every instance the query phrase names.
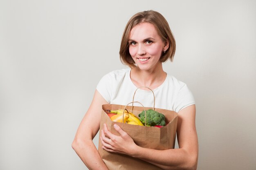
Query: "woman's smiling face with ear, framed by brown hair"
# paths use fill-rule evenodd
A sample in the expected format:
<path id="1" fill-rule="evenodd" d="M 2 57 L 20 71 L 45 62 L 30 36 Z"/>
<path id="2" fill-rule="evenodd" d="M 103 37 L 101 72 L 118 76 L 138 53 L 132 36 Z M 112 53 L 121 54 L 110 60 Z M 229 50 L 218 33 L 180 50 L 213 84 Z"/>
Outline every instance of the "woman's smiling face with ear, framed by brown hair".
<path id="1" fill-rule="evenodd" d="M 153 24 L 143 22 L 133 27 L 128 43 L 130 55 L 141 70 L 148 71 L 162 66 L 159 59 L 168 46 Z"/>

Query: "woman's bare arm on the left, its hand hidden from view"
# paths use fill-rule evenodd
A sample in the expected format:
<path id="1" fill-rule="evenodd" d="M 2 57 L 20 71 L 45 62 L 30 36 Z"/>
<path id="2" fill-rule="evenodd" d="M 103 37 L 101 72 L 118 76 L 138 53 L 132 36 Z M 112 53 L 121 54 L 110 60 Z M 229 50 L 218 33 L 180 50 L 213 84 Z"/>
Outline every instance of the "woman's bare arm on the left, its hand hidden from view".
<path id="1" fill-rule="evenodd" d="M 72 143 L 72 148 L 90 170 L 108 170 L 92 142 L 99 131 L 103 104 L 108 104 L 108 102 L 96 90 L 92 104 L 83 117 Z"/>

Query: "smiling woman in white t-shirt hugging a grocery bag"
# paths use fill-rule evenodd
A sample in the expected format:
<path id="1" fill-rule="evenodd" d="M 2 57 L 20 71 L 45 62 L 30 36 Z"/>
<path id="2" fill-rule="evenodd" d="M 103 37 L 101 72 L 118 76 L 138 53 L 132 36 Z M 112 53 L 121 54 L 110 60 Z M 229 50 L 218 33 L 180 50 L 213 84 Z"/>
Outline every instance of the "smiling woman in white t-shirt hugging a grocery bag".
<path id="1" fill-rule="evenodd" d="M 162 62 L 173 60 L 175 40 L 164 17 L 156 11 L 135 14 L 127 23 L 120 47 L 121 61 L 129 69 L 112 71 L 97 86 L 92 104 L 81 121 L 72 147 L 92 170 L 107 170 L 92 139 L 99 130 L 103 104 L 126 105 L 132 101 L 137 87 L 146 86 L 155 93 L 156 108 L 178 113 L 178 149 L 154 150 L 137 146 L 119 126 L 121 134 L 113 135 L 104 124 L 101 135 L 103 149 L 142 159 L 162 169 L 195 170 L 198 162 L 198 138 L 195 129 L 195 102 L 186 84 L 168 75 Z M 139 89 L 136 101 L 152 107 L 152 92 Z"/>

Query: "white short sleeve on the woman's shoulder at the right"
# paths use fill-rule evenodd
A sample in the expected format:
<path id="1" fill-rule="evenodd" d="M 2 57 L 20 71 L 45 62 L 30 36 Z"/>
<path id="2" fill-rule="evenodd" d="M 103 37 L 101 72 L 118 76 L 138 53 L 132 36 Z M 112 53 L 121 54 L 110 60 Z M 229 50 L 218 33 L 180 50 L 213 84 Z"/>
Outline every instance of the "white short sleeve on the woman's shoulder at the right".
<path id="1" fill-rule="evenodd" d="M 175 105 L 174 105 L 175 112 L 178 113 L 183 108 L 186 108 L 193 104 L 195 104 L 195 99 L 193 97 L 193 94 L 189 90 L 188 86 L 186 84 L 183 84 L 183 86 L 180 88 L 176 96 Z"/>

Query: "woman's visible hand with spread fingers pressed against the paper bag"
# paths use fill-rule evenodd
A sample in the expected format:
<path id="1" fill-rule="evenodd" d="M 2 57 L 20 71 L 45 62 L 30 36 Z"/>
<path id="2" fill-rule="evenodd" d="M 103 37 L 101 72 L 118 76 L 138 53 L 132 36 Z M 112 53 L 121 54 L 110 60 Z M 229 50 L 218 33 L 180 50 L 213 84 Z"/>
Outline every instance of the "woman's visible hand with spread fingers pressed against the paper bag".
<path id="1" fill-rule="evenodd" d="M 132 150 L 135 150 L 137 146 L 133 139 L 117 124 L 114 124 L 114 128 L 119 132 L 120 136 L 112 134 L 107 125 L 104 124 L 104 128 L 101 131 L 102 148 L 108 152 L 132 155 Z"/>

